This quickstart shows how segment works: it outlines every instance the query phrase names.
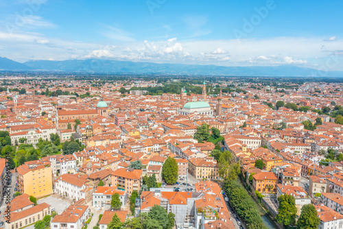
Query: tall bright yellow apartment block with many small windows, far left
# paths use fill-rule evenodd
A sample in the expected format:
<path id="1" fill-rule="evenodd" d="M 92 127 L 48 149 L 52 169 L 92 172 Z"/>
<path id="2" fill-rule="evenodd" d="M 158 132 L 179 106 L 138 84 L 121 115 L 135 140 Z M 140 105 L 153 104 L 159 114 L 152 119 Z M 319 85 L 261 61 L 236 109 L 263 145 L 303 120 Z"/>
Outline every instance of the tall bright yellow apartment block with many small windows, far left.
<path id="1" fill-rule="evenodd" d="M 51 167 L 38 165 L 30 169 L 27 165 L 21 165 L 16 171 L 19 192 L 34 197 L 43 197 L 52 193 Z"/>

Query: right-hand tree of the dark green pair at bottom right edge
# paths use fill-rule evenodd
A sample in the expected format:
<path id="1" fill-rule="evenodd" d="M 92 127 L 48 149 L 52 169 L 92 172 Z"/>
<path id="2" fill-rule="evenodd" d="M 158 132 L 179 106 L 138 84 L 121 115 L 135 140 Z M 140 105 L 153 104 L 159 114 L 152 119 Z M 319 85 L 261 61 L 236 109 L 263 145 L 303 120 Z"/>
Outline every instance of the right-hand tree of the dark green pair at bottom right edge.
<path id="1" fill-rule="evenodd" d="M 298 221 L 296 222 L 299 229 L 317 229 L 320 224 L 318 212 L 313 204 L 305 204 L 301 208 L 301 213 Z"/>

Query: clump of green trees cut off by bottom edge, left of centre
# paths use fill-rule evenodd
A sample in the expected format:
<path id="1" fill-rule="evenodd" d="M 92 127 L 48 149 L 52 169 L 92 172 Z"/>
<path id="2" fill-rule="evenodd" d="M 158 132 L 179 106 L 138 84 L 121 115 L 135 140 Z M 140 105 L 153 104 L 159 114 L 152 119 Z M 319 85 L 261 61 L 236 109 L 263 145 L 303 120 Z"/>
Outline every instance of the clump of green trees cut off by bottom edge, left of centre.
<path id="1" fill-rule="evenodd" d="M 175 215 L 174 213 L 167 213 L 163 206 L 155 205 L 148 213 L 139 213 L 137 218 L 126 219 L 124 223 L 115 213 L 112 221 L 108 224 L 108 229 L 171 229 L 174 228 Z"/>

